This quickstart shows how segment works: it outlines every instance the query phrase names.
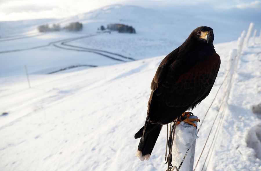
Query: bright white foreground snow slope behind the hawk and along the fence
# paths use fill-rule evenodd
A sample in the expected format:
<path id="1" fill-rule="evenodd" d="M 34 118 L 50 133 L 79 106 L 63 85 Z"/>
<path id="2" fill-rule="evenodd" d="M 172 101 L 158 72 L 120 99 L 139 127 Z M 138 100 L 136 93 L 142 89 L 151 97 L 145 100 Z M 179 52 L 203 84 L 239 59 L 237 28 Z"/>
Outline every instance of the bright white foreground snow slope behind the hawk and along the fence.
<path id="1" fill-rule="evenodd" d="M 256 39 L 256 42 L 259 40 Z M 236 42 L 216 44 L 222 64 L 212 92 L 192 112 L 202 118 L 224 80 Z M 251 105 L 260 102 L 260 43 L 244 49 L 207 170 L 260 170 L 260 131 Z M 166 127 L 149 161 L 135 157 L 150 82 L 164 56 L 70 73 L 0 78 L 1 170 L 164 170 Z M 202 150 L 224 96 L 221 88 L 196 143 Z M 259 141 L 260 141 L 260 137 Z M 260 142 L 259 142 L 260 144 Z M 210 143 L 207 144 L 207 149 Z M 202 159 L 201 162 L 203 162 Z M 196 162 L 196 161 L 195 161 Z M 202 163 L 200 163 L 202 166 Z M 200 170 L 201 167 L 198 167 Z"/>

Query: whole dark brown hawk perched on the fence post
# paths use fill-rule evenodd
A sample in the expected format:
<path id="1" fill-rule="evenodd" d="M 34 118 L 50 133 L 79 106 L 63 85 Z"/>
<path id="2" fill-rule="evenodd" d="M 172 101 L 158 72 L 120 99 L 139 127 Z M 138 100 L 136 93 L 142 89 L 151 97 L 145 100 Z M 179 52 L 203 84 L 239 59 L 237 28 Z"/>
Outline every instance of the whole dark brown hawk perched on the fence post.
<path id="1" fill-rule="evenodd" d="M 162 125 L 184 116 L 209 95 L 220 67 L 213 41 L 212 28 L 197 27 L 160 63 L 151 82 L 145 124 L 135 134 L 142 137 L 136 154 L 141 160 L 149 159 Z"/>

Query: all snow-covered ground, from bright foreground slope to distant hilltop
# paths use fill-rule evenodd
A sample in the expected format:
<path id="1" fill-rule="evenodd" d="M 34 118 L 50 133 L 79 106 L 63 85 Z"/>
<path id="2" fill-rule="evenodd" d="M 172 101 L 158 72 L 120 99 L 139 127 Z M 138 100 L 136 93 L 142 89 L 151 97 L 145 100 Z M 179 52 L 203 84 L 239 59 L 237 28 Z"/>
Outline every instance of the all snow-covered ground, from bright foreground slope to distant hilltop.
<path id="1" fill-rule="evenodd" d="M 6 32 L 0 38 L 0 170 L 166 170 L 166 126 L 148 161 L 135 157 L 139 140 L 134 134 L 144 124 L 150 83 L 159 63 L 199 26 L 197 18 L 182 23 L 186 16 L 114 5 L 60 20 L 62 24 L 83 22 L 84 30 L 79 33 L 38 34 L 29 21 L 22 29 L 26 33 Z M 133 25 L 137 34 L 96 33 L 97 27 L 110 22 Z M 243 29 L 232 30 L 236 21 L 227 24 L 226 19 L 200 22 L 213 27 L 214 46 L 221 57 L 210 95 L 192 111 L 203 119 L 231 69 L 234 60 L 229 53 L 238 47 L 236 40 Z M 13 25 L 5 24 L 8 28 Z M 17 35 L 8 36 L 14 33 Z M 261 170 L 261 121 L 251 112 L 251 106 L 261 102 L 260 38 L 249 45 L 233 70 L 233 79 L 228 77 L 233 81 L 230 93 L 226 91 L 227 79 L 198 133 L 194 163 L 216 115 L 217 123 L 223 116 L 205 170 Z M 72 65 L 98 67 L 47 74 Z M 225 95 L 229 96 L 227 103 L 218 113 Z M 197 170 L 202 169 L 213 133 Z"/>

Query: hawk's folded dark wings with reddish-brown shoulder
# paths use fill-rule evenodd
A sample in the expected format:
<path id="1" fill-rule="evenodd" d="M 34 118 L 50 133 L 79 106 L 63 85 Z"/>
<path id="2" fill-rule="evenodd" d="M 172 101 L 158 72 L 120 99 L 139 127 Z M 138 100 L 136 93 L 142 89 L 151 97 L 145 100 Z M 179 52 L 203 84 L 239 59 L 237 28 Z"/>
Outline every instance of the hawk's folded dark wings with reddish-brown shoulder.
<path id="1" fill-rule="evenodd" d="M 171 63 L 169 63 L 171 62 Z M 189 69 L 179 60 L 164 58 L 151 83 L 148 116 L 153 123 L 165 123 L 165 108 L 193 108 L 209 94 L 220 67 L 220 57 L 214 53 Z M 185 62 L 186 63 L 186 62 Z M 173 111 L 173 110 L 172 110 Z M 179 113 L 181 114 L 181 113 Z M 169 121 L 171 122 L 171 121 Z"/>

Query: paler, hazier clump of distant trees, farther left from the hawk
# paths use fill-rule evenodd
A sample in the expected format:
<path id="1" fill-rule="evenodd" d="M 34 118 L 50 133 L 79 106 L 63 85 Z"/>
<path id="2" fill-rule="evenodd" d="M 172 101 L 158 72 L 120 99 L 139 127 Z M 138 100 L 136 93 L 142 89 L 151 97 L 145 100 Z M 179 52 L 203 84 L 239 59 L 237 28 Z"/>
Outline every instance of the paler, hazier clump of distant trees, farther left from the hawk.
<path id="1" fill-rule="evenodd" d="M 53 24 L 52 26 L 49 26 L 49 24 L 44 24 L 44 25 L 39 25 L 37 29 L 39 32 L 55 32 L 60 30 L 78 32 L 82 30 L 82 23 L 79 22 L 70 23 L 69 25 L 63 28 L 60 26 L 60 24 Z"/>

